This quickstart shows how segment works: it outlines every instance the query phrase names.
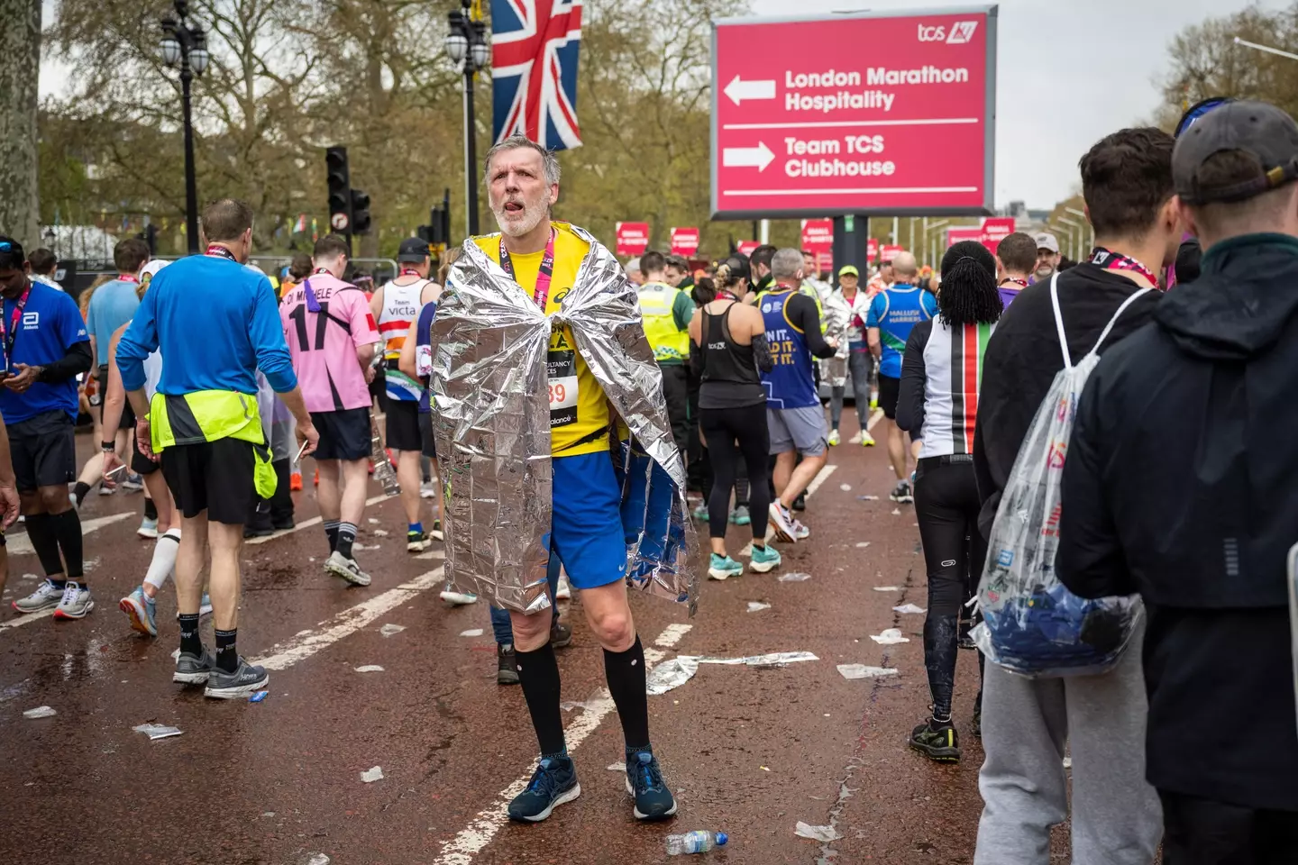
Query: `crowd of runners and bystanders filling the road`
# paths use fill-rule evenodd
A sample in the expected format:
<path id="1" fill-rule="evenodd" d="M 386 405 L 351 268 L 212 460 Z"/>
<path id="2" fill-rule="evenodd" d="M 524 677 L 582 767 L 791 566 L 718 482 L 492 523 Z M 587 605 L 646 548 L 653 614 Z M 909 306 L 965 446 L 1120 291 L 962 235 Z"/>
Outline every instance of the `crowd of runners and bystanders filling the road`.
<path id="1" fill-rule="evenodd" d="M 981 687 L 962 695 L 959 725 L 985 752 L 979 865 L 1044 864 L 1050 827 L 1070 812 L 1076 862 L 1146 865 L 1160 844 L 1175 865 L 1293 862 L 1285 568 L 1298 543 L 1298 445 L 1286 434 L 1298 406 L 1298 124 L 1268 105 L 1214 100 L 1176 137 L 1103 137 L 1080 180 L 1096 241 L 1076 265 L 1049 233 L 1010 235 L 994 254 L 959 243 L 936 271 L 907 252 L 867 274 L 845 265 L 836 284 L 797 249 L 759 246 L 696 272 L 646 252 L 626 263 L 661 372 L 661 389 L 644 396 L 662 406 L 701 494 L 693 517 L 707 529 L 713 580 L 775 571 L 780 546 L 814 542 L 805 493 L 828 450 L 881 438 L 896 473 L 887 495 L 914 503 L 928 577 L 932 711 L 910 737 L 915 751 L 961 759 L 958 650 L 981 650 Z M 558 163 L 539 145 L 496 145 L 484 182 L 500 235 L 472 239 L 437 270 L 426 243 L 405 240 L 400 272 L 373 292 L 334 235 L 275 283 L 244 265 L 253 214 L 230 198 L 202 211 L 205 255 L 164 262 L 123 240 L 118 275 L 79 301 L 49 278 L 53 255 L 0 237 L 0 502 L 5 525 L 23 520 L 45 573 L 13 608 L 90 615 L 78 510 L 96 490 L 143 490 L 139 534 L 156 543 L 118 602 L 126 624 L 158 637 L 160 593 L 174 577 L 174 680 L 241 698 L 269 676 L 236 648 L 239 549 L 293 528 L 291 490 L 315 488 L 323 571 L 350 585 L 370 584 L 356 537 L 371 473 L 400 486 L 410 554 L 454 545 L 432 393 L 439 305 L 454 309 L 448 274 L 514 281 L 549 315 L 593 248 L 552 222 Z M 524 611 L 487 598 L 497 681 L 523 686 L 541 755 L 509 813 L 545 820 L 580 792 L 554 659 L 572 634 L 553 603 L 578 590 L 622 720 L 635 814 L 661 818 L 676 803 L 650 746 L 627 602 L 623 493 L 609 459 L 619 419 L 582 344 L 566 323 L 549 345 L 552 381 L 570 383 L 549 393 L 550 603 Z M 1050 539 L 1049 576 L 1031 589 L 1031 613 L 993 616 L 997 593 L 1033 567 L 1016 556 L 1036 555 L 1037 541 L 1001 545 L 1001 504 L 1024 493 L 1060 380 L 1085 383 L 1059 403 L 1068 427 L 1042 460 L 1055 480 L 1041 489 L 1062 498 L 1037 523 L 1011 515 Z M 80 414 L 100 447 L 78 472 Z M 742 552 L 727 547 L 729 525 L 750 527 Z M 0 586 L 6 573 L 0 546 Z M 441 597 L 471 604 L 487 589 L 448 582 Z M 1136 595 L 1142 604 L 1115 600 Z M 1062 635 L 1044 639 L 1050 628 Z M 1071 638 L 1085 663 L 1051 655 Z"/>

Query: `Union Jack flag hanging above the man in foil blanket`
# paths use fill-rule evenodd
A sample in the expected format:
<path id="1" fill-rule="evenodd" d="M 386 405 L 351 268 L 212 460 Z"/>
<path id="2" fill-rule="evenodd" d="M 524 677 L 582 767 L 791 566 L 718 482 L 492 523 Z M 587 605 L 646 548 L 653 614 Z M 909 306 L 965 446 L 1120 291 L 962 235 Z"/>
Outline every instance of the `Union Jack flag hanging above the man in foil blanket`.
<path id="1" fill-rule="evenodd" d="M 491 27 L 496 140 L 523 132 L 552 150 L 582 147 L 582 0 L 491 0 Z"/>

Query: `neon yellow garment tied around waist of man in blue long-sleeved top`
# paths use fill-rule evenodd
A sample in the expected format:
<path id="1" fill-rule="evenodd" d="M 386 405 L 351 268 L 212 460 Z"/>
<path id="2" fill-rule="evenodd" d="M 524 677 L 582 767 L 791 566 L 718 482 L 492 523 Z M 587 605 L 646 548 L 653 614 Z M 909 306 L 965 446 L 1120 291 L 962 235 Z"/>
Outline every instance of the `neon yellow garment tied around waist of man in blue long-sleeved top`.
<path id="1" fill-rule="evenodd" d="M 179 397 L 154 393 L 149 405 L 149 433 L 156 454 L 173 445 L 200 445 L 219 438 L 247 441 L 257 455 L 253 475 L 257 495 L 270 498 L 275 494 L 275 468 L 270 464 L 256 396 L 236 390 L 197 390 Z"/>

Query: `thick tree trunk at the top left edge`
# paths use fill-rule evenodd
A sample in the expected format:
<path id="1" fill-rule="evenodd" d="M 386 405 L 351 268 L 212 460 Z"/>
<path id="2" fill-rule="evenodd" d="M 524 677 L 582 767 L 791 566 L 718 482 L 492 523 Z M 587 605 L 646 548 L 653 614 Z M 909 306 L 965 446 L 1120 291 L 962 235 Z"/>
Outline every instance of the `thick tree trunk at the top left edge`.
<path id="1" fill-rule="evenodd" d="M 38 241 L 40 0 L 0 0 L 0 232 Z"/>

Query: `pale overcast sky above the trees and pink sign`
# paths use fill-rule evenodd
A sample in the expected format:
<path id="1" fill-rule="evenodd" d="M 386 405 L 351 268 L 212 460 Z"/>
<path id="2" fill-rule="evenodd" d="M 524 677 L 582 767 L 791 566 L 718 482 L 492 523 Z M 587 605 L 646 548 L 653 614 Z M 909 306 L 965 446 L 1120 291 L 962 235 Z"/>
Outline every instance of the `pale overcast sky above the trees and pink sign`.
<path id="1" fill-rule="evenodd" d="M 750 1 L 757 16 L 946 5 L 941 0 Z M 45 0 L 47 22 L 52 5 Z M 1153 118 L 1172 35 L 1185 25 L 1247 5 L 1245 0 L 1001 0 L 997 206 L 1027 201 L 1029 207 L 1046 209 L 1072 195 L 1077 160 L 1092 143 Z M 1259 0 L 1258 5 L 1280 9 L 1289 3 Z M 60 69 L 42 69 L 42 93 L 60 92 L 65 84 Z"/>

